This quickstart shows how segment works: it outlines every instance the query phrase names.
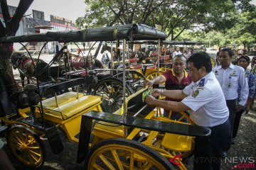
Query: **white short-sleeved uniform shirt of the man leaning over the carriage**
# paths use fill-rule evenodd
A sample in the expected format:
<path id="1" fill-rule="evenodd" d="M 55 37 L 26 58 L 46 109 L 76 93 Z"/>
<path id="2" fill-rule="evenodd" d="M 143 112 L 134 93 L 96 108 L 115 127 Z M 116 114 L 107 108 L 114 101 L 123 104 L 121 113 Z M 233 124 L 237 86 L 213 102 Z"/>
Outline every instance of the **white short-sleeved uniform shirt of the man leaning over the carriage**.
<path id="1" fill-rule="evenodd" d="M 190 118 L 196 125 L 213 127 L 228 120 L 225 96 L 212 72 L 186 86 L 183 93 L 188 97 L 181 102 L 191 108 Z"/>

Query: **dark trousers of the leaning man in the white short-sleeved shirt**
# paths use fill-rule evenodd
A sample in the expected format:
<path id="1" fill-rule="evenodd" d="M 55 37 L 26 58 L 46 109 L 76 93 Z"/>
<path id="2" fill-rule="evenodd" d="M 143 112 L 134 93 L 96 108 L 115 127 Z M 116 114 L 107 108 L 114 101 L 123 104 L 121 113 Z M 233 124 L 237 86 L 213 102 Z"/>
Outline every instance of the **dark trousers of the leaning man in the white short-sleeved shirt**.
<path id="1" fill-rule="evenodd" d="M 220 153 L 230 134 L 230 121 L 210 128 L 210 137 L 196 137 L 193 169 L 218 170 L 220 169 Z"/>

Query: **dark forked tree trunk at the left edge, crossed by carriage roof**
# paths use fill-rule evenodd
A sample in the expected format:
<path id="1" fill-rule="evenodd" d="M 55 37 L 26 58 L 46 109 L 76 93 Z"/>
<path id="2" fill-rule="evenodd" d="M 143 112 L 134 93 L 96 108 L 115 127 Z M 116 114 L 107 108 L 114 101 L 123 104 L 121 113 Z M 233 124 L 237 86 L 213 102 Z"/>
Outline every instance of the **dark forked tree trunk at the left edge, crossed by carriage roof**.
<path id="1" fill-rule="evenodd" d="M 14 16 L 10 16 L 6 0 L 0 0 L 1 11 L 4 23 L 0 21 L 0 37 L 12 36 L 16 34 L 19 22 L 23 14 L 31 6 L 33 0 L 20 0 Z M 4 79 L 6 89 L 9 93 L 16 89 L 16 82 L 10 64 L 10 56 L 13 49 L 13 43 L 0 44 L 0 76 Z"/>

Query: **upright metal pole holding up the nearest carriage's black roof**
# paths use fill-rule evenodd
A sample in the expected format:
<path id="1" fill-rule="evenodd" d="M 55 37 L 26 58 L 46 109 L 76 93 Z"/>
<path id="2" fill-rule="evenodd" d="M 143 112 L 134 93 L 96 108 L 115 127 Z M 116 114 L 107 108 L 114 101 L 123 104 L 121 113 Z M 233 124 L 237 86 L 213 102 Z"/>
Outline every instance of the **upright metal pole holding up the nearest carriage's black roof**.
<path id="1" fill-rule="evenodd" d="M 123 42 L 123 53 L 122 53 L 122 62 L 123 62 L 123 115 L 124 115 L 124 122 L 126 121 L 126 106 L 125 106 L 125 44 L 126 44 L 126 40 L 122 40 Z M 124 127 L 124 137 L 127 137 L 127 126 Z"/>

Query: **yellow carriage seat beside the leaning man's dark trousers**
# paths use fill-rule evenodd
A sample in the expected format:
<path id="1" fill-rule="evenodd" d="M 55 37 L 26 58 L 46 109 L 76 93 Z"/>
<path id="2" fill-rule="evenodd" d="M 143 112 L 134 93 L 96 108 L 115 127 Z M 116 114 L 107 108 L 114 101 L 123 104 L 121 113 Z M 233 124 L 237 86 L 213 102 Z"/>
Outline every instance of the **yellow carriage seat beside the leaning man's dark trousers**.
<path id="1" fill-rule="evenodd" d="M 191 136 L 166 133 L 161 146 L 176 152 L 188 152 L 191 150 Z"/>

